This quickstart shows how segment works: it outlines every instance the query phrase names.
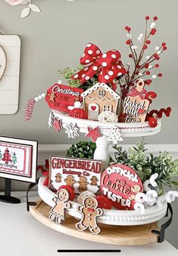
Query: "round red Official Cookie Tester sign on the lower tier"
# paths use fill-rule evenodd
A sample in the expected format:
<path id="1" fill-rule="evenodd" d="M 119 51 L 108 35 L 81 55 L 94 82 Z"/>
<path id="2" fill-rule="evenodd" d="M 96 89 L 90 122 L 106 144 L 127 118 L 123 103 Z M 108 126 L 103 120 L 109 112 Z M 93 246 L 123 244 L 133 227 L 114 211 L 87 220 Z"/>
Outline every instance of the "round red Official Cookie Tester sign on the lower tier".
<path id="1" fill-rule="evenodd" d="M 101 193 L 111 199 L 118 209 L 133 210 L 135 196 L 142 191 L 141 179 L 129 166 L 115 164 L 101 175 Z"/>

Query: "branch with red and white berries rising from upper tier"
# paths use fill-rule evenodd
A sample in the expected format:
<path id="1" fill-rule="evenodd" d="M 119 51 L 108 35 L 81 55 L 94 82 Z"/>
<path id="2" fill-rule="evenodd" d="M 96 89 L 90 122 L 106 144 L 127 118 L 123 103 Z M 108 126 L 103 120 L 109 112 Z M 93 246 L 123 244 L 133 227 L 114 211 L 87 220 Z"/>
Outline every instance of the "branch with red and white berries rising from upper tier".
<path id="1" fill-rule="evenodd" d="M 158 17 L 153 17 L 153 20 L 151 23 L 149 23 L 150 17 L 145 17 L 145 33 L 140 33 L 137 38 L 141 44 L 141 49 L 139 51 L 139 47 L 133 43 L 131 27 L 125 27 L 128 37 L 128 40 L 126 40 L 126 45 L 130 47 L 129 58 L 133 60 L 134 68 L 131 72 L 131 65 L 130 63 L 127 63 L 127 74 L 123 75 L 123 77 L 117 81 L 117 83 L 120 84 L 123 97 L 126 95 L 126 93 L 128 93 L 130 87 L 135 86 L 136 81 L 138 81 L 140 78 L 145 79 L 145 84 L 150 85 L 152 79 L 162 77 L 162 73 L 151 74 L 151 72 L 159 68 L 159 64 L 157 62 L 160 60 L 161 53 L 167 50 L 166 43 L 162 43 L 161 46 L 156 46 L 155 52 L 153 52 L 151 55 L 145 56 L 145 59 L 143 59 L 145 51 L 148 50 L 148 47 L 151 45 L 151 36 L 154 36 L 157 32 L 155 28 L 157 20 Z"/>

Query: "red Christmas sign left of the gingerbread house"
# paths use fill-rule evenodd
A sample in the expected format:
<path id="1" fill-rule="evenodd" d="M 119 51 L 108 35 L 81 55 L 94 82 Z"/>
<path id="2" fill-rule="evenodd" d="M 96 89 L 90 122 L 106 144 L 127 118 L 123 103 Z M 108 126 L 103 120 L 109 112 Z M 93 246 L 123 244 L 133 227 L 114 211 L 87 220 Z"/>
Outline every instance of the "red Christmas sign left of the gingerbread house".
<path id="1" fill-rule="evenodd" d="M 51 109 L 69 112 L 68 106 L 73 106 L 76 101 L 82 101 L 81 93 L 83 89 L 55 84 L 48 89 L 45 101 Z"/>

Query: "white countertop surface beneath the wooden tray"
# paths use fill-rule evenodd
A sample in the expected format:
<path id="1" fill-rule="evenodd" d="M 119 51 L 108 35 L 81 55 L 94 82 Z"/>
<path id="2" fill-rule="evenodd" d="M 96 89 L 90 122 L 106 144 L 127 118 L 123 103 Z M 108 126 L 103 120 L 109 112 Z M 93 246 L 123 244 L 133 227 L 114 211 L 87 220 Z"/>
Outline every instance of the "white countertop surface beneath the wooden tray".
<path id="1" fill-rule="evenodd" d="M 132 255 L 178 256 L 178 250 L 168 242 L 142 246 L 106 245 L 88 242 L 64 235 L 39 223 L 26 209 L 26 192 L 14 192 L 21 204 L 0 202 L 1 256 L 55 256 L 55 255 Z M 30 201 L 37 192 L 30 192 Z M 81 234 L 82 235 L 82 234 Z M 58 253 L 58 249 L 120 249 L 117 253 Z M 103 256 L 103 255 L 102 255 Z"/>

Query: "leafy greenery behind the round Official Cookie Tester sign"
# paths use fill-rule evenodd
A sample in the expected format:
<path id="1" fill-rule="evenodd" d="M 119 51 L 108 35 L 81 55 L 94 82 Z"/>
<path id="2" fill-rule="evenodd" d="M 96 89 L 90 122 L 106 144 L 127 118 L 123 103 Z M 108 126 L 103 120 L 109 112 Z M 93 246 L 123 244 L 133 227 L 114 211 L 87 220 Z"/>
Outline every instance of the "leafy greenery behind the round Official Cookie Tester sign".
<path id="1" fill-rule="evenodd" d="M 173 160 L 173 157 L 167 152 L 159 153 L 158 156 L 149 156 L 145 154 L 147 150 L 144 142 L 139 142 L 136 147 L 131 147 L 128 152 L 122 150 L 122 147 L 114 146 L 116 152 L 114 159 L 110 156 L 110 163 L 121 163 L 133 168 L 139 175 L 142 182 L 150 179 L 151 175 L 158 173 L 156 182 L 158 183 L 158 194 L 164 193 L 164 185 L 170 188 L 177 186 L 178 182 L 174 179 L 178 176 L 178 160 Z"/>

